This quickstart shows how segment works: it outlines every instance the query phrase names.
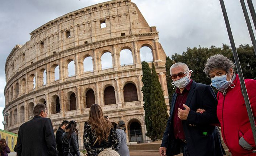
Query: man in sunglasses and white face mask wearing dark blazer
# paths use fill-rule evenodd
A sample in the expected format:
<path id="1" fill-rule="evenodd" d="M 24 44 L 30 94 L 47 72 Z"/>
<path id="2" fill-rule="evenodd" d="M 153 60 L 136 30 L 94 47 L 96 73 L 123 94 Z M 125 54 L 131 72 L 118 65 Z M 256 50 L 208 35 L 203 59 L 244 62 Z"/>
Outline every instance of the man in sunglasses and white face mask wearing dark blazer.
<path id="1" fill-rule="evenodd" d="M 170 117 L 159 149 L 160 156 L 223 156 L 223 147 L 216 134 L 217 100 L 209 85 L 196 83 L 185 63 L 170 68 L 173 84 L 177 87 L 172 96 Z M 198 108 L 207 109 L 197 113 Z"/>

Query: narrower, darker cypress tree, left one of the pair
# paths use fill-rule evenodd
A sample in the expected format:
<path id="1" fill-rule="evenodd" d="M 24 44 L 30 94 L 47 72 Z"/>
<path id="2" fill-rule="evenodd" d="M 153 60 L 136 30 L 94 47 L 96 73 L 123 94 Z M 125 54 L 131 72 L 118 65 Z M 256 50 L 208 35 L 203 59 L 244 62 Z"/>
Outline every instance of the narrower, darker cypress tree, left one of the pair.
<path id="1" fill-rule="evenodd" d="M 152 121 L 151 121 L 151 110 L 150 110 L 150 89 L 151 89 L 151 69 L 147 62 L 141 62 L 142 65 L 142 82 L 143 87 L 141 91 L 143 92 L 144 110 L 145 110 L 145 125 L 146 125 L 146 136 L 152 139 Z"/>

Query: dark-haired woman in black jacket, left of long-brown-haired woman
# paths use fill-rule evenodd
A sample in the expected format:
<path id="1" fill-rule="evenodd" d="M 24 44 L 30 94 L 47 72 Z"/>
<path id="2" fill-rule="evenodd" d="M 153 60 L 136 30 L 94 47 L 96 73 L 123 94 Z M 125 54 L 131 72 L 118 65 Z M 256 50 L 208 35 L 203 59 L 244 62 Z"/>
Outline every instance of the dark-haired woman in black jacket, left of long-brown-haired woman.
<path id="1" fill-rule="evenodd" d="M 62 135 L 62 148 L 63 155 L 67 156 L 69 152 L 73 156 L 80 156 L 79 146 L 78 146 L 78 130 L 77 123 L 75 121 L 70 121 L 69 125 L 66 126 L 65 133 Z"/>

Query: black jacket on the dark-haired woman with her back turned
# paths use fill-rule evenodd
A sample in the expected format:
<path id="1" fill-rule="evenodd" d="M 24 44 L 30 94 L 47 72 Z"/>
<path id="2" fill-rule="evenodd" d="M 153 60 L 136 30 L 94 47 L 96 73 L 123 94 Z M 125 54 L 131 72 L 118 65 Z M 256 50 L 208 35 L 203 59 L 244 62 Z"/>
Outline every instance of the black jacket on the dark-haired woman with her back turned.
<path id="1" fill-rule="evenodd" d="M 70 153 L 73 156 L 80 156 L 78 147 L 78 136 L 73 132 L 70 136 L 71 139 L 67 138 L 69 132 L 65 132 L 62 135 L 62 149 L 63 153 L 69 152 L 69 140 L 70 140 Z"/>

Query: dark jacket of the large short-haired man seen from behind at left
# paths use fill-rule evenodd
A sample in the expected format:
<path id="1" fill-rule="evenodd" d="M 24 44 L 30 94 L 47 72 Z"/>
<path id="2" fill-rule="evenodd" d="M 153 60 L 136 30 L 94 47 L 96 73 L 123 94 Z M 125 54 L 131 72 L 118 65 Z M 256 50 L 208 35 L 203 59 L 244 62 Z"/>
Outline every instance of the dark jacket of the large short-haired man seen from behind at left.
<path id="1" fill-rule="evenodd" d="M 17 156 L 58 156 L 51 119 L 34 116 L 18 130 Z"/>

